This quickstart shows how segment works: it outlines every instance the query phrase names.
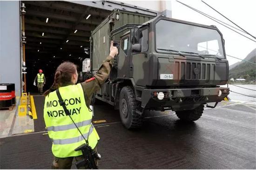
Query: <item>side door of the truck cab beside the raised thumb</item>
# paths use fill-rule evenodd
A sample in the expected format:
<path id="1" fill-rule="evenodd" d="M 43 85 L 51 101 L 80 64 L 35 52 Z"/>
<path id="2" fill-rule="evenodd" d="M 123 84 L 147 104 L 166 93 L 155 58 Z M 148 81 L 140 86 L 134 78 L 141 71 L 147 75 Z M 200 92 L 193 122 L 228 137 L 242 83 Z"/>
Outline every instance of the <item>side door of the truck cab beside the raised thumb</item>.
<path id="1" fill-rule="evenodd" d="M 118 58 L 118 77 L 129 77 L 130 43 L 129 34 L 122 37 L 120 41 Z"/>

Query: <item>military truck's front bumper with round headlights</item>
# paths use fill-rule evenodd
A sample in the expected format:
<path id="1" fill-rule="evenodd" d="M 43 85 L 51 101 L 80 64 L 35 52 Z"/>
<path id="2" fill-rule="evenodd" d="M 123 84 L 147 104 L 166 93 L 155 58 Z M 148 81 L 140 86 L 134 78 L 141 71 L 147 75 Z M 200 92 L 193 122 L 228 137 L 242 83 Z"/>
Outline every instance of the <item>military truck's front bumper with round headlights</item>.
<path id="1" fill-rule="evenodd" d="M 229 88 L 220 87 L 143 89 L 141 107 L 152 110 L 191 110 L 201 104 L 222 101 L 228 94 Z"/>

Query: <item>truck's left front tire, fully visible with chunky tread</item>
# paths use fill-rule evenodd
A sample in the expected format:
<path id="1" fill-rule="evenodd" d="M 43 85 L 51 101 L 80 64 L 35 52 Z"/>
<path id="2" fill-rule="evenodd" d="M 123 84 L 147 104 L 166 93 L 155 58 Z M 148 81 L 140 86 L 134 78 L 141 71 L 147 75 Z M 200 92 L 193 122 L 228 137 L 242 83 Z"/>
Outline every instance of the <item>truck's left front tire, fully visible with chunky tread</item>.
<path id="1" fill-rule="evenodd" d="M 125 86 L 121 89 L 119 97 L 119 113 L 122 124 L 127 129 L 141 127 L 141 116 L 136 113 L 135 95 L 130 86 Z"/>

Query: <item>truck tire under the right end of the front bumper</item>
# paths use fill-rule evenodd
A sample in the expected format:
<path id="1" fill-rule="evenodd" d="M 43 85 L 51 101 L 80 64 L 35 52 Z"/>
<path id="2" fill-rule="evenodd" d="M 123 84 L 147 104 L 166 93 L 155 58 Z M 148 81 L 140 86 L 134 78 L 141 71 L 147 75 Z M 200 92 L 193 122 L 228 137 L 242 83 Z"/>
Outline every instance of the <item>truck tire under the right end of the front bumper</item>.
<path id="1" fill-rule="evenodd" d="M 180 120 L 185 122 L 192 122 L 198 120 L 202 116 L 203 107 L 204 105 L 200 105 L 193 110 L 176 111 L 175 113 Z"/>

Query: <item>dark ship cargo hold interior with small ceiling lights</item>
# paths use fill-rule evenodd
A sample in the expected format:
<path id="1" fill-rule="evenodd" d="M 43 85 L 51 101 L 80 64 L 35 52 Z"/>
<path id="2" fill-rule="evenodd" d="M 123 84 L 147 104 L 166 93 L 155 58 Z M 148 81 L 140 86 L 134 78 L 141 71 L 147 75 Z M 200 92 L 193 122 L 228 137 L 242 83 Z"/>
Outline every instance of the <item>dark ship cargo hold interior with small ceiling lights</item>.
<path id="1" fill-rule="evenodd" d="M 33 85 L 39 69 L 46 76 L 44 90 L 51 87 L 54 72 L 63 61 L 77 64 L 89 58 L 91 31 L 111 11 L 67 1 L 23 1 L 25 14 L 25 56 L 27 92 L 37 92 Z"/>

